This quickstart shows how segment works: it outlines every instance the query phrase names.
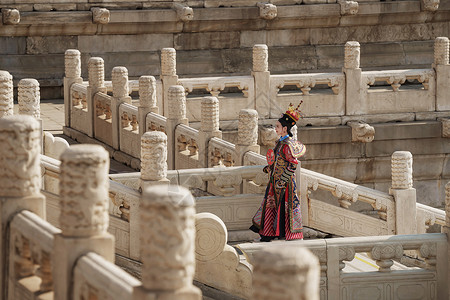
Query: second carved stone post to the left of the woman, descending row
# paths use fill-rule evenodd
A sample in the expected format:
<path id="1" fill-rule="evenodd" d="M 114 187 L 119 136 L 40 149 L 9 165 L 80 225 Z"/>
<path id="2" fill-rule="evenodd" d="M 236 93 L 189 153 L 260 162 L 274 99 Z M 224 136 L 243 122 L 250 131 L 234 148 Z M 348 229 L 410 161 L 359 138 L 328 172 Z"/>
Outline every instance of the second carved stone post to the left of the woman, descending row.
<path id="1" fill-rule="evenodd" d="M 219 130 L 219 100 L 216 97 L 203 97 L 202 119 L 198 136 L 198 160 L 200 168 L 208 168 L 208 143 L 213 137 L 222 138 Z"/>

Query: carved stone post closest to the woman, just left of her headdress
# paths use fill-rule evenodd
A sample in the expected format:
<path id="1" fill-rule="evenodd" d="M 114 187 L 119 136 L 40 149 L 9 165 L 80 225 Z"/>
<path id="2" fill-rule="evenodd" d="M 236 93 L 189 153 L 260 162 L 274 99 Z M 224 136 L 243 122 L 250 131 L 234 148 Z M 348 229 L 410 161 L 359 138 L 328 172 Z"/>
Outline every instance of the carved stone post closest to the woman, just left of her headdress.
<path id="1" fill-rule="evenodd" d="M 244 154 L 247 151 L 259 153 L 258 145 L 258 112 L 254 109 L 241 109 L 239 112 L 238 141 L 236 165 L 244 164 Z"/>

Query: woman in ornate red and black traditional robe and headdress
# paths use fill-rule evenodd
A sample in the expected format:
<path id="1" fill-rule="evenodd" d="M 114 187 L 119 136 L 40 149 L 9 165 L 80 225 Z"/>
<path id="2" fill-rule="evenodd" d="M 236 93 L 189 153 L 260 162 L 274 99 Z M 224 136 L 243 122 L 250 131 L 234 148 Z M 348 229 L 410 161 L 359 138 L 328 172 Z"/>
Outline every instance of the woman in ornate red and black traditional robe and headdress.
<path id="1" fill-rule="evenodd" d="M 302 102 L 300 102 L 301 104 Z M 297 196 L 295 169 L 298 158 L 306 152 L 305 146 L 292 138 L 291 128 L 300 118 L 300 104 L 289 109 L 278 119 L 275 131 L 280 136 L 275 148 L 268 151 L 268 165 L 263 171 L 270 179 L 264 200 L 253 217 L 250 227 L 261 236 L 262 242 L 275 238 L 303 239 L 300 200 Z"/>

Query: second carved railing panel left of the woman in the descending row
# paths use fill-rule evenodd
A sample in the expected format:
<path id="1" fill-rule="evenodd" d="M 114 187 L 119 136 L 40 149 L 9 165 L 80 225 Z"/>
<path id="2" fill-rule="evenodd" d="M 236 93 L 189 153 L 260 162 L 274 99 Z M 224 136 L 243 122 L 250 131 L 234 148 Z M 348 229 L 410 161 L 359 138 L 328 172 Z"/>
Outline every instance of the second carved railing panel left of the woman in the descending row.
<path id="1" fill-rule="evenodd" d="M 199 167 L 198 130 L 180 124 L 175 129 L 175 169 L 196 169 Z"/>

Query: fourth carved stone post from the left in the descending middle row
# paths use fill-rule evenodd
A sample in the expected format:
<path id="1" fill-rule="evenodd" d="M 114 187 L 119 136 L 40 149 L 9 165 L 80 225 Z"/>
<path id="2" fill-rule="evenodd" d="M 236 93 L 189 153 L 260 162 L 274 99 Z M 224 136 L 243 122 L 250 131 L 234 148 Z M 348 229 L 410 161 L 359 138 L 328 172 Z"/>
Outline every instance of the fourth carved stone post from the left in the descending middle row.
<path id="1" fill-rule="evenodd" d="M 159 113 L 156 101 L 156 79 L 153 76 L 139 77 L 139 134 L 147 131 L 145 122 L 148 113 Z"/>

